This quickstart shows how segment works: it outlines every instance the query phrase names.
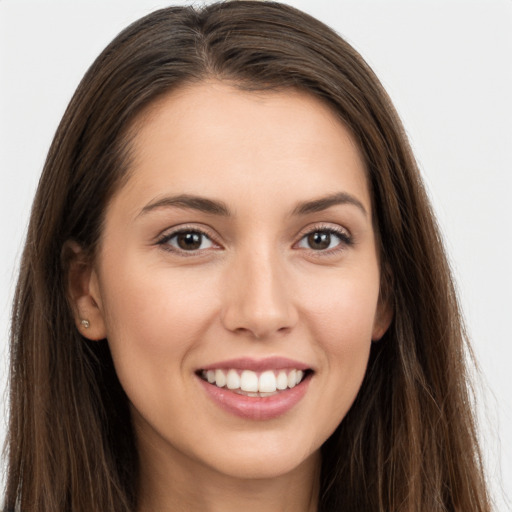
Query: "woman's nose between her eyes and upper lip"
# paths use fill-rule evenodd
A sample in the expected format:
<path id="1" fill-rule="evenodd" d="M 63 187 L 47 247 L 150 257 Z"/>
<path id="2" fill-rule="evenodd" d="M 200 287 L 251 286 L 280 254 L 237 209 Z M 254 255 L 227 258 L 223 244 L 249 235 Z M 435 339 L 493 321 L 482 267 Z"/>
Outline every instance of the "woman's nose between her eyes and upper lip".
<path id="1" fill-rule="evenodd" d="M 227 271 L 221 315 L 224 327 L 255 339 L 290 331 L 298 313 L 283 263 L 271 251 L 247 252 Z"/>

